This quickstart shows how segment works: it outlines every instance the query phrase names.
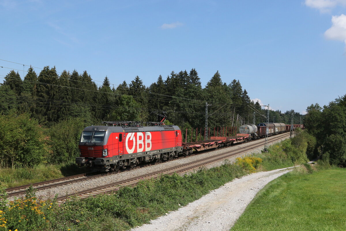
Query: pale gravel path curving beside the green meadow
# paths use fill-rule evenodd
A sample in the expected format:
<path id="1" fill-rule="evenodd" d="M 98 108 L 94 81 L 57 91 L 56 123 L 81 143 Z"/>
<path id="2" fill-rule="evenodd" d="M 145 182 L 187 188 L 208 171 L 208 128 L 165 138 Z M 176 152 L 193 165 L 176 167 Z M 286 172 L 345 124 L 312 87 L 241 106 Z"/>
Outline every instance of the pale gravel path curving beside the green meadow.
<path id="1" fill-rule="evenodd" d="M 276 169 L 235 179 L 199 200 L 131 231 L 228 231 L 258 191 L 273 179 L 291 170 Z"/>

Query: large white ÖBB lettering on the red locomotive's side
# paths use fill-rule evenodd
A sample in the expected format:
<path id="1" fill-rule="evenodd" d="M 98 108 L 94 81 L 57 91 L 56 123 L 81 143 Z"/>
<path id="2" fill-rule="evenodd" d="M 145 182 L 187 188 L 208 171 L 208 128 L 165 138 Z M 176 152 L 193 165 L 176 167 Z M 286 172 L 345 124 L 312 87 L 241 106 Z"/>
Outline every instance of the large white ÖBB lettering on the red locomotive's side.
<path id="1" fill-rule="evenodd" d="M 150 132 L 127 133 L 125 139 L 126 151 L 128 152 L 128 154 L 140 153 L 144 149 L 145 151 L 150 151 L 152 148 L 151 138 L 152 136 Z"/>

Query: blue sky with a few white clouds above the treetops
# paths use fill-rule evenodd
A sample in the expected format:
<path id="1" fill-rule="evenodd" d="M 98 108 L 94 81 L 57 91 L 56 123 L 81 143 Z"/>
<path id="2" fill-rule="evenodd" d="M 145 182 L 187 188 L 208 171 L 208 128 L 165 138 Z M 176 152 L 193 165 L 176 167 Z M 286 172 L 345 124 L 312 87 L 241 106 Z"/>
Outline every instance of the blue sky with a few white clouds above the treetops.
<path id="1" fill-rule="evenodd" d="M 346 94 L 346 0 L 0 0 L 0 12 L 7 61 L 86 70 L 115 86 L 191 68 L 205 86 L 218 70 L 251 99 L 301 113 Z"/>

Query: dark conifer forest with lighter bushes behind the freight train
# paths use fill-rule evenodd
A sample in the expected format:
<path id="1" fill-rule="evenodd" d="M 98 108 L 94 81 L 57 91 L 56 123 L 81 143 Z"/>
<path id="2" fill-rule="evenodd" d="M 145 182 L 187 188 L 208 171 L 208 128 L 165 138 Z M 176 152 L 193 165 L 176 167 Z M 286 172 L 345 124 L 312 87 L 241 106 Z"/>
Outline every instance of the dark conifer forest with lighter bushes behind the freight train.
<path id="1" fill-rule="evenodd" d="M 0 85 L 0 166 L 35 166 L 73 162 L 79 156 L 78 141 L 86 126 L 101 121 L 158 121 L 164 111 L 166 124 L 204 128 L 206 103 L 208 127 L 239 127 L 265 122 L 266 108 L 253 102 L 239 80 L 223 82 L 217 71 L 202 86 L 197 71 L 172 71 L 145 86 L 139 76 L 130 82 L 111 84 L 106 76 L 95 83 L 87 71 L 30 67 L 24 80 L 10 71 Z M 294 110 L 270 110 L 270 122 L 301 124 Z M 204 130 L 203 130 L 204 131 Z M 204 135 L 202 135 L 203 137 Z"/>

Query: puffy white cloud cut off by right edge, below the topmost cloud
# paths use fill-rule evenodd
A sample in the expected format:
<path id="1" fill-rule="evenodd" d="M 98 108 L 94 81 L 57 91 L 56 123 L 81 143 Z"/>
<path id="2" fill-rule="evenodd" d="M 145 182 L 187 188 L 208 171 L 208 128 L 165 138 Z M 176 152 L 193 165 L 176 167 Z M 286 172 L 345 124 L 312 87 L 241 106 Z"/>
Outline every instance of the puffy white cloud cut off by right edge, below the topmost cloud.
<path id="1" fill-rule="evenodd" d="M 333 25 L 326 30 L 325 37 L 330 40 L 344 41 L 346 44 L 346 15 L 333 16 L 331 22 Z"/>

